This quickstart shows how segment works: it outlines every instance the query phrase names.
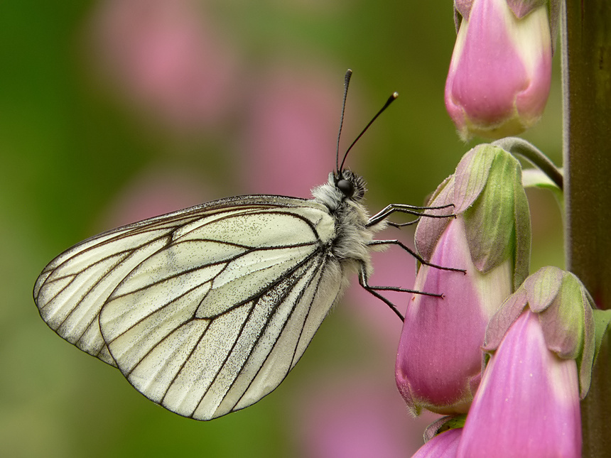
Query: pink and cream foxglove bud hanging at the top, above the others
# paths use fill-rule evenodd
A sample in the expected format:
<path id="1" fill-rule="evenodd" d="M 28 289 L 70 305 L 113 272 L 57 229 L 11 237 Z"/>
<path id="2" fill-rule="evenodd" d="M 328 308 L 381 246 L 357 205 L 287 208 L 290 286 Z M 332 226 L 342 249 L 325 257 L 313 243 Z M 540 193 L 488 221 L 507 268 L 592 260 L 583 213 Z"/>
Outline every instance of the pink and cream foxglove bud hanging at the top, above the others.
<path id="1" fill-rule="evenodd" d="M 458 36 L 445 107 L 468 140 L 502 138 L 539 121 L 551 84 L 558 2 L 455 0 Z M 551 18 L 551 20 L 550 20 Z"/>

